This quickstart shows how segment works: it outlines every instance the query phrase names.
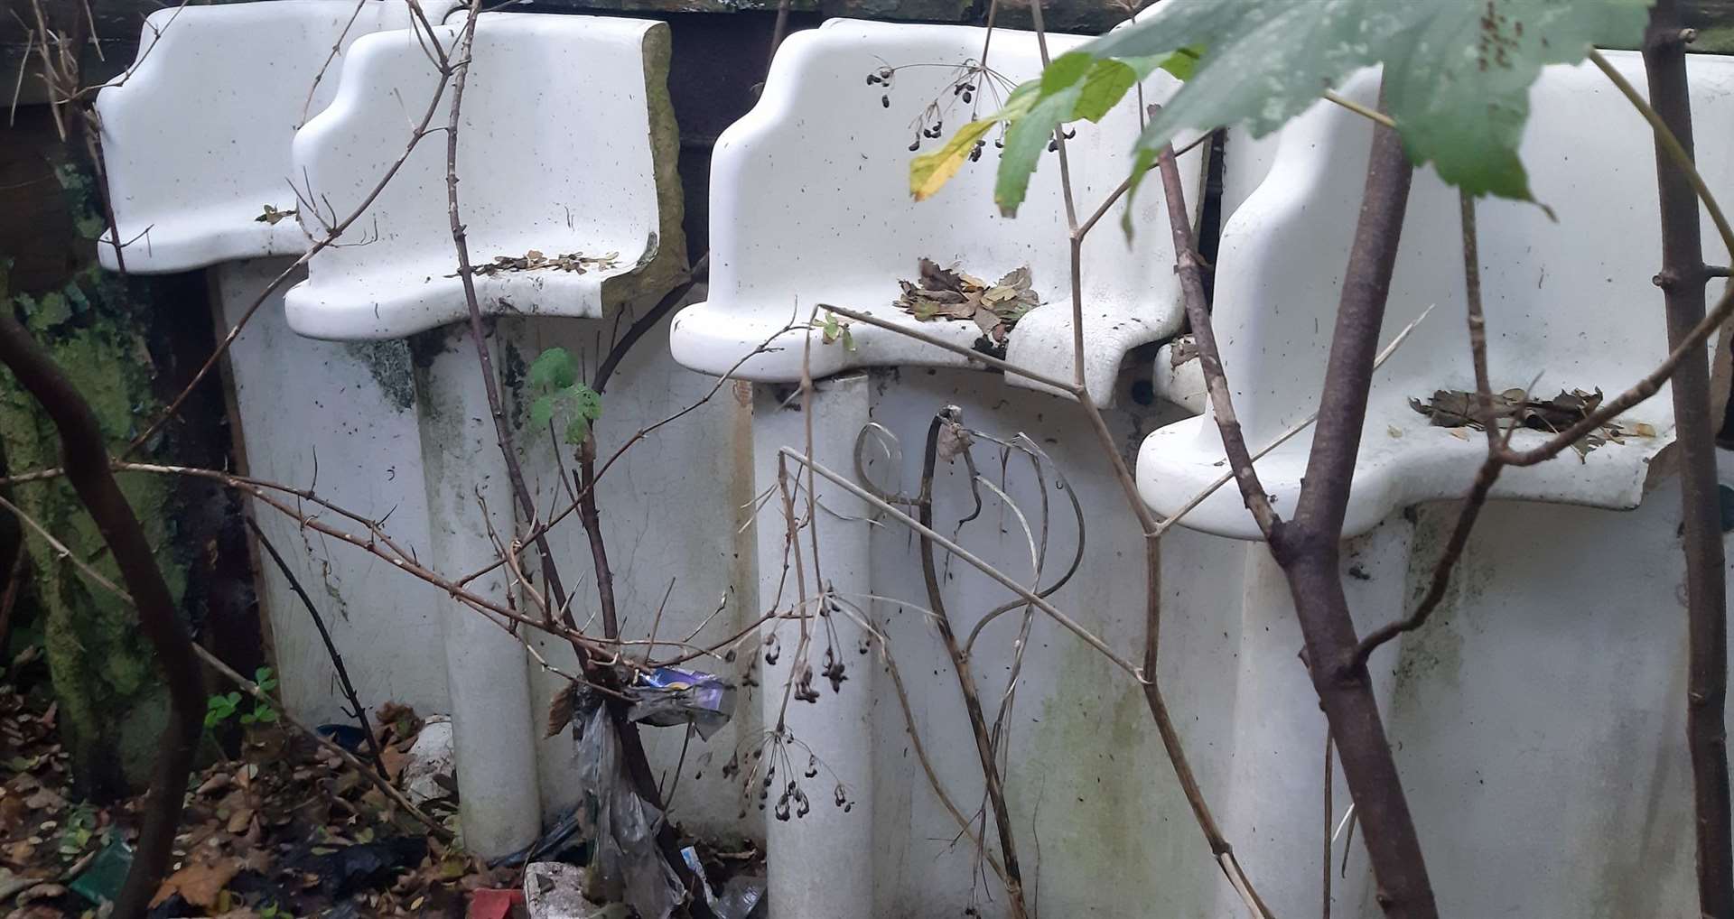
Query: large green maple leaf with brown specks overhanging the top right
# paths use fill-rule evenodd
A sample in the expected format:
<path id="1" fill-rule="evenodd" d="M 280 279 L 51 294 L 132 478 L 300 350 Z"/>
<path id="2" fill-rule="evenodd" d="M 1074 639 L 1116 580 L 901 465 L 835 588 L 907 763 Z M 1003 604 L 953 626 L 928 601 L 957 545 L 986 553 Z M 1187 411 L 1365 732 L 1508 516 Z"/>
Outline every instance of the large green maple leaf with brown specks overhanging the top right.
<path id="1" fill-rule="evenodd" d="M 1028 114 L 1007 128 L 995 201 L 1023 203 L 1054 128 L 1106 111 L 1131 88 L 1110 62 L 1193 69 L 1138 139 L 1134 187 L 1183 128 L 1242 125 L 1262 137 L 1349 73 L 1384 64 L 1385 111 L 1415 165 L 1460 189 L 1531 199 L 1517 158 L 1529 85 L 1592 43 L 1639 40 L 1651 0 L 1164 0 L 1143 21 L 1049 64 Z M 1177 54 L 1209 49 L 1191 61 Z M 1037 83 L 1037 81 L 1032 81 Z M 1028 85 L 1028 83 L 1027 83 Z M 1084 104 L 1087 101 L 1087 104 Z M 1082 109 L 1082 111 L 1080 111 Z M 1099 114 L 1098 114 L 1099 118 Z M 1025 144 L 1013 156 L 1013 135 Z"/>

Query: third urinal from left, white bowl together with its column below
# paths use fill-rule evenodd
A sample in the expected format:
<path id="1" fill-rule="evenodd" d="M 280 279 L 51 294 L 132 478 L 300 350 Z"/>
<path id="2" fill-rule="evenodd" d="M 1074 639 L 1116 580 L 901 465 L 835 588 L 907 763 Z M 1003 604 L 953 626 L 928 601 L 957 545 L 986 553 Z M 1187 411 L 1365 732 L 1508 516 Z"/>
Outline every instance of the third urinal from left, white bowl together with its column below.
<path id="1" fill-rule="evenodd" d="M 987 137 L 980 158 L 966 163 L 936 196 L 919 203 L 910 198 L 909 168 L 919 153 L 910 149 L 914 142 L 919 140 L 921 149 L 938 147 L 971 113 L 995 111 L 1013 85 L 1042 69 L 1033 33 L 995 29 L 987 61 L 994 76 L 971 76 L 966 62 L 980 59 L 985 38 L 987 31 L 980 28 L 841 19 L 784 42 L 758 106 L 716 144 L 711 166 L 711 284 L 707 302 L 687 307 L 675 319 L 671 347 L 676 361 L 702 373 L 786 383 L 801 380 L 803 366 L 818 380 L 851 368 L 964 368 L 968 361 L 955 354 L 858 323 L 850 329 L 853 349 L 825 345 L 818 335 L 812 336 L 808 349 L 803 335 L 794 331 L 758 350 L 789 323 L 806 323 L 822 303 L 872 312 L 971 345 L 983 335 L 975 323 L 921 323 L 893 307 L 900 295 L 898 281 L 916 279 L 919 260 L 931 258 L 985 281 L 1020 267 L 1030 269 L 1032 290 L 1042 305 L 1018 321 L 1006 357 L 1056 378 L 1073 376 L 1068 224 L 1058 154 L 1042 156 L 1014 218 L 999 213 L 992 194 L 999 132 Z M 1082 42 L 1085 38 L 1068 35 L 1047 38 L 1054 55 Z M 1158 71 L 1144 83 L 1143 99 L 1157 102 L 1176 87 L 1167 73 Z M 1077 125 L 1077 135 L 1068 142 L 1079 220 L 1085 220 L 1131 170 L 1131 147 L 1139 130 L 1134 99 L 1136 94 L 1129 95 L 1101 125 Z M 928 137 L 921 137 L 924 130 Z M 1193 208 L 1200 205 L 1202 165 L 1198 153 L 1181 161 Z M 1132 205 L 1136 250 L 1127 246 L 1118 227 L 1122 213 L 1124 203 L 1110 208 L 1084 246 L 1082 293 L 1089 343 L 1084 376 L 1101 401 L 1111 399 L 1125 354 L 1172 335 L 1181 326 L 1183 312 L 1158 184 L 1144 184 Z M 1021 378 L 1007 380 L 1027 387 Z M 997 381 L 985 376 L 980 381 L 987 387 L 983 392 L 994 394 L 988 404 L 1004 402 L 1001 395 L 1006 390 Z M 888 409 L 891 397 L 886 392 L 886 387 L 869 385 L 860 375 L 824 381 L 812 397 L 808 428 L 803 414 L 784 411 L 787 406 L 775 390 L 761 390 L 753 425 L 756 489 L 775 491 L 779 447 L 799 446 L 808 433 L 820 461 L 850 468 L 857 432 L 876 418 L 876 411 Z M 1030 392 L 1011 390 L 1009 395 L 1025 407 L 1047 402 L 1047 395 Z M 886 404 L 876 409 L 881 397 Z M 987 418 L 987 411 L 975 418 Z M 1039 411 L 1032 407 L 1030 414 Z M 879 418 L 893 427 L 909 421 L 924 428 L 924 418 L 907 413 L 905 407 L 895 418 Z M 877 560 L 870 550 L 872 529 L 862 517 L 867 512 L 824 480 L 815 491 L 820 503 L 834 512 L 813 524 L 824 534 L 825 583 L 851 596 L 895 593 L 896 586 L 876 586 L 872 581 Z M 761 520 L 758 569 L 763 609 L 773 603 L 773 596 L 784 596 L 787 603 L 794 591 L 784 583 L 780 532 L 780 524 Z M 810 593 L 817 590 L 817 581 L 808 584 Z M 917 633 L 921 638 L 912 636 L 910 642 L 929 638 L 924 628 Z M 794 647 L 792 626 L 780 629 L 780 640 Z M 789 668 L 799 666 L 794 657 L 792 650 L 786 652 L 761 675 L 763 685 L 780 685 Z M 924 815 L 903 813 L 900 808 L 909 805 L 895 803 L 905 792 L 888 791 L 905 787 L 905 779 L 912 780 L 916 773 L 903 773 L 905 766 L 912 766 L 896 759 L 902 728 L 876 740 L 874 723 L 886 718 L 884 680 L 876 676 L 874 668 L 851 666 L 850 673 L 846 692 L 827 692 L 818 707 L 792 706 L 784 711 L 782 694 L 766 692 L 763 697 L 765 723 L 775 725 L 787 716 L 794 737 L 812 746 L 820 759 L 832 765 L 838 780 L 853 789 L 848 813 L 815 806 L 801 820 L 766 824 L 770 902 L 779 917 L 867 919 L 877 916 L 876 910 L 902 909 L 896 903 L 929 895 L 966 896 L 940 874 L 905 876 L 902 890 L 884 884 L 884 877 L 898 874 L 898 858 L 907 857 L 900 855 L 909 844 L 905 838 L 917 839 L 909 851 L 926 851 L 921 841 L 929 838 L 929 827 Z M 954 694 L 950 676 L 935 692 L 945 697 Z M 876 747 L 876 742 L 883 746 Z M 886 770 L 896 775 L 876 775 L 876 761 L 886 763 Z M 886 794 L 884 801 L 874 801 Z M 917 791 L 914 799 L 921 794 Z M 881 806 L 886 801 L 891 805 Z M 942 827 L 931 832 L 943 836 L 952 831 Z M 824 883 L 815 884 L 815 877 Z M 938 909 L 936 902 L 931 900 L 929 907 Z"/>

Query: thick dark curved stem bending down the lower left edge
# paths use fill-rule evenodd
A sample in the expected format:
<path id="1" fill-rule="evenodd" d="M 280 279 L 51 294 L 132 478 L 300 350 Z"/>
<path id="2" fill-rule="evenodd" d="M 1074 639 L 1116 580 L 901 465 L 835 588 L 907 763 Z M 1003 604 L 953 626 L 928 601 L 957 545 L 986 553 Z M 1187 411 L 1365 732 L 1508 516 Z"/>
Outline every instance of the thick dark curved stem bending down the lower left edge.
<path id="1" fill-rule="evenodd" d="M 192 654 L 192 640 L 180 624 L 180 614 L 156 567 L 151 543 L 109 472 L 108 446 L 90 404 L 10 310 L 0 310 L 0 362 L 12 369 L 17 381 L 54 421 L 61 437 L 66 477 L 90 512 L 127 583 L 127 591 L 139 610 L 139 629 L 156 652 L 158 668 L 168 685 L 168 723 L 163 727 L 161 751 L 151 770 L 151 792 L 144 803 L 139 850 L 114 900 L 116 917 L 137 919 L 144 916 L 173 857 L 187 772 L 192 768 L 192 751 L 203 728 L 205 687 Z"/>

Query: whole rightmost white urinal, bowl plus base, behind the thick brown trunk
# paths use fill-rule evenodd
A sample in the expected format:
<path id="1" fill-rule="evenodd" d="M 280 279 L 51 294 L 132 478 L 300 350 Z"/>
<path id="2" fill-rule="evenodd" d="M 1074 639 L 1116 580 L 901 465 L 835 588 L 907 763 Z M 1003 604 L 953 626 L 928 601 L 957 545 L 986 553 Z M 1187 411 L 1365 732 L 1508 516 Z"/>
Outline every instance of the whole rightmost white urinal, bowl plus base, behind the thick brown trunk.
<path id="1" fill-rule="evenodd" d="M 1607 57 L 1644 85 L 1637 54 Z M 1699 151 L 1717 151 L 1734 116 L 1734 61 L 1692 55 L 1691 83 Z M 1379 75 L 1370 71 L 1344 87 L 1361 102 L 1373 102 L 1377 90 Z M 1588 64 L 1543 71 L 1531 109 L 1522 158 L 1536 199 L 1557 220 L 1536 205 L 1477 205 L 1493 388 L 1533 385 L 1542 399 L 1561 390 L 1611 397 L 1668 350 L 1661 293 L 1651 283 L 1661 264 L 1651 132 Z M 1370 139 L 1366 120 L 1320 102 L 1281 132 L 1269 175 L 1224 227 L 1216 333 L 1255 451 L 1316 411 Z M 1708 154 L 1699 168 L 1711 189 L 1734 194 L 1734 161 Z M 1711 264 L 1727 258 L 1708 217 L 1705 250 Z M 1463 290 L 1457 191 L 1418 170 L 1384 340 L 1436 309 L 1377 373 L 1368 402 L 1344 551 L 1344 584 L 1363 635 L 1413 605 L 1455 520 L 1451 505 L 1420 508 L 1418 524 L 1399 512 L 1460 498 L 1486 453 L 1481 432 L 1432 427 L 1410 404 L 1436 390 L 1474 390 Z M 1689 844 L 1680 858 L 1661 855 L 1637 829 L 1677 829 L 1673 817 L 1685 813 L 1675 798 L 1684 785 L 1665 780 L 1672 773 L 1684 782 L 1684 735 L 1659 716 L 1675 706 L 1684 711 L 1675 683 L 1684 673 L 1679 498 L 1672 486 L 1649 494 L 1672 482 L 1659 461 L 1673 442 L 1668 390 L 1621 420 L 1630 428 L 1623 442 L 1505 470 L 1446 603 L 1422 631 L 1370 662 L 1443 912 L 1689 910 L 1689 895 L 1679 900 L 1682 888 L 1673 883 L 1691 874 Z M 1522 449 L 1543 437 L 1521 430 L 1512 444 Z M 1295 508 L 1309 447 L 1311 430 L 1257 461 L 1285 517 Z M 1174 513 L 1224 468 L 1205 413 L 1144 440 L 1138 482 L 1151 508 Z M 1257 539 L 1233 484 L 1183 524 Z M 1235 662 L 1222 824 L 1278 912 L 1314 909 L 1318 872 L 1294 869 L 1316 864 L 1325 725 L 1295 661 L 1300 635 L 1283 574 L 1262 544 L 1250 543 L 1247 553 L 1247 638 Z M 1630 749 L 1663 753 L 1632 763 Z M 1346 803 L 1339 777 L 1335 817 Z M 1548 844 L 1536 846 L 1536 834 Z M 1632 877 L 1644 877 L 1642 893 L 1616 895 L 1606 877 L 1639 838 L 1646 867 Z M 1547 851 L 1531 858 L 1540 850 Z M 1339 907 L 1373 916 L 1359 843 L 1349 857 Z M 1450 881 L 1462 877 L 1484 883 Z M 1644 905 L 1611 905 L 1623 896 Z M 1222 909 L 1236 905 L 1226 900 Z"/>

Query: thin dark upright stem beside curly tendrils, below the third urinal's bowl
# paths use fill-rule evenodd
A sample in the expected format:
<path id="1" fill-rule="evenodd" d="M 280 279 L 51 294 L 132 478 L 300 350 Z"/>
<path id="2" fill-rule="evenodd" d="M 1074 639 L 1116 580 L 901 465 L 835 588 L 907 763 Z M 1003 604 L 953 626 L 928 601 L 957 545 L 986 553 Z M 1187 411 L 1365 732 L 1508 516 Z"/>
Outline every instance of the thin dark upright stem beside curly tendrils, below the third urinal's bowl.
<path id="1" fill-rule="evenodd" d="M 928 532 L 933 527 L 933 468 L 938 460 L 940 433 L 947 425 L 955 427 L 961 421 L 959 414 L 961 411 L 955 406 L 947 406 L 928 425 L 928 444 L 921 458 L 921 494 L 916 498 L 916 513 Z M 975 735 L 976 756 L 981 759 L 981 779 L 987 784 L 988 803 L 999 831 L 999 851 L 1006 860 L 1006 898 L 1011 900 L 1013 917 L 1021 919 L 1028 916 L 1028 909 L 1023 903 L 1023 870 L 1018 867 L 1016 832 L 1011 829 L 1011 810 L 1006 806 L 1004 779 L 999 773 L 999 765 L 994 761 L 994 742 L 988 739 L 987 716 L 981 711 L 981 695 L 971 675 L 969 661 L 964 657 L 962 647 L 957 643 L 957 633 L 952 629 L 952 619 L 945 612 L 940 574 L 933 562 L 933 539 L 926 532 L 921 534 L 921 579 L 928 588 L 928 609 L 933 610 L 933 624 L 940 629 L 940 642 L 945 645 L 945 654 L 950 655 L 952 669 L 957 673 L 957 688 L 964 697 L 964 711 L 969 716 L 969 732 Z"/>

